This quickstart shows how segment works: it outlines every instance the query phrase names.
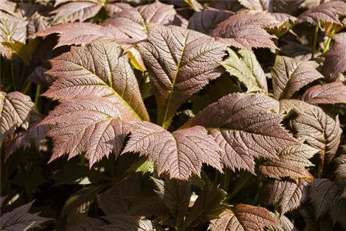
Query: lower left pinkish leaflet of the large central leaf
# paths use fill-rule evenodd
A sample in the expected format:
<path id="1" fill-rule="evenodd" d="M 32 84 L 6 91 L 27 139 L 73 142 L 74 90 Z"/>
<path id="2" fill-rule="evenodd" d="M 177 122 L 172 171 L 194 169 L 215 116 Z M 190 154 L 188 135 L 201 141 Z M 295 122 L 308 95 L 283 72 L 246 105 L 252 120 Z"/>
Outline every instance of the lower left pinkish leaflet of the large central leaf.
<path id="1" fill-rule="evenodd" d="M 48 136 L 53 138 L 54 148 L 50 162 L 64 154 L 73 158 L 84 151 L 89 166 L 109 153 L 118 157 L 130 129 L 120 118 L 116 105 L 97 95 L 66 100 L 41 122 L 51 125 Z"/>

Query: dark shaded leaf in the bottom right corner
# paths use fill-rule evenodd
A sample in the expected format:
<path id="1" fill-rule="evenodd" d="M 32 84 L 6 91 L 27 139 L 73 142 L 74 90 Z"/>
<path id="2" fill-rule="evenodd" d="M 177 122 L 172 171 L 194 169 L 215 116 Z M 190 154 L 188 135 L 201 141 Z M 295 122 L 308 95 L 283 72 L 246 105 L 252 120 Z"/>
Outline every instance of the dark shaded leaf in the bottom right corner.
<path id="1" fill-rule="evenodd" d="M 346 198 L 341 198 L 346 181 L 334 183 L 328 179 L 315 179 L 309 184 L 309 199 L 317 218 L 326 212 L 333 223 L 339 222 L 346 228 Z"/>

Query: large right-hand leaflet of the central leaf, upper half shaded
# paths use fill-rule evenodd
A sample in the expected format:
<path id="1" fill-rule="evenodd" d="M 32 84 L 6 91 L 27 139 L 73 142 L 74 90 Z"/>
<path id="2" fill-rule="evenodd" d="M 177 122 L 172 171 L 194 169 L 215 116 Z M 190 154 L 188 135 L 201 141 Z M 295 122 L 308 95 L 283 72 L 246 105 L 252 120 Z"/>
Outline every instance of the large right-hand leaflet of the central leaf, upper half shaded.
<path id="1" fill-rule="evenodd" d="M 254 158 L 277 158 L 277 151 L 298 141 L 286 131 L 281 115 L 271 113 L 277 101 L 264 94 L 233 93 L 210 104 L 184 126 L 209 129 L 230 169 L 255 174 Z"/>

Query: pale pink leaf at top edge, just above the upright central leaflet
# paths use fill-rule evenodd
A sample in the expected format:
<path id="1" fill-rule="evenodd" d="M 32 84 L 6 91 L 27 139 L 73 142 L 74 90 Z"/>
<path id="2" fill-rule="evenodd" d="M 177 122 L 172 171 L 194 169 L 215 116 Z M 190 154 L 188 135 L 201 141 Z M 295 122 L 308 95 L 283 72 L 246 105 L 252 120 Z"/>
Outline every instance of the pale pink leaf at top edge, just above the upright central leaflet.
<path id="1" fill-rule="evenodd" d="M 151 4 L 116 12 L 102 25 L 111 25 L 129 37 L 141 40 L 147 38 L 146 32 L 149 23 L 170 25 L 174 15 L 176 15 L 176 11 L 173 5 L 155 1 Z"/>

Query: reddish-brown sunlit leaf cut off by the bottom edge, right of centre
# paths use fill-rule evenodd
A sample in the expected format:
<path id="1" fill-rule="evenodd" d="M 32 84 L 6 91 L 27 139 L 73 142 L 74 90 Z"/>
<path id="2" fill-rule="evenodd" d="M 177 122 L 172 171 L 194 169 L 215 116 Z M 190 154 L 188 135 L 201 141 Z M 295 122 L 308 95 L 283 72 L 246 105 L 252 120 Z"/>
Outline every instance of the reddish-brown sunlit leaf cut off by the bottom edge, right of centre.
<path id="1" fill-rule="evenodd" d="M 265 208 L 239 204 L 224 210 L 219 219 L 211 221 L 209 228 L 212 231 L 250 231 L 277 224 L 273 214 Z"/>

